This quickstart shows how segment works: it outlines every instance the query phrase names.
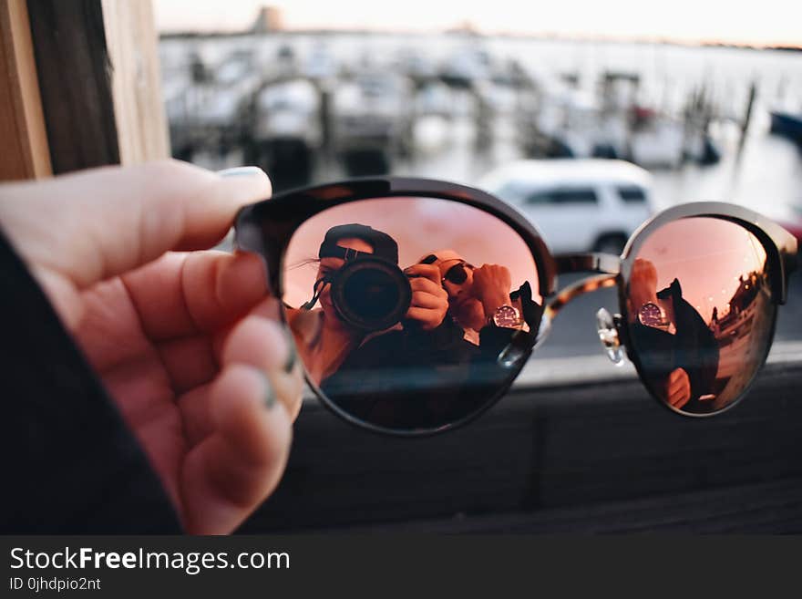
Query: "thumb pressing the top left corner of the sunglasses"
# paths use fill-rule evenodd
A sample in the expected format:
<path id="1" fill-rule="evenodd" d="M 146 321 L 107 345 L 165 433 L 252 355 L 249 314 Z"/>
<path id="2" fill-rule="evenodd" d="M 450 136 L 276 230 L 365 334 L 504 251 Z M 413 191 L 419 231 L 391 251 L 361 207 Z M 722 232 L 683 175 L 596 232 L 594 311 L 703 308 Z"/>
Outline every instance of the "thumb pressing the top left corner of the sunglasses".
<path id="1" fill-rule="evenodd" d="M 35 272 L 82 289 L 218 242 L 239 208 L 271 193 L 260 169 L 231 174 L 165 160 L 0 186 L 0 223 Z"/>

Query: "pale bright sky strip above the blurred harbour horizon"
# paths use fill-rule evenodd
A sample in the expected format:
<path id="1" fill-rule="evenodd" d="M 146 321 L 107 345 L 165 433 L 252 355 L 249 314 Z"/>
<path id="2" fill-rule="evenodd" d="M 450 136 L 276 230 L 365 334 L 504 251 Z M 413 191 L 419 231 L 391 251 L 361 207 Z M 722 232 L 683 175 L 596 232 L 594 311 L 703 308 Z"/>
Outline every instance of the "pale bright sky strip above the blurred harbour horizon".
<path id="1" fill-rule="evenodd" d="M 470 23 L 480 33 L 664 39 L 802 46 L 798 0 L 153 0 L 160 31 L 242 30 L 262 5 L 287 29 L 434 32 Z"/>

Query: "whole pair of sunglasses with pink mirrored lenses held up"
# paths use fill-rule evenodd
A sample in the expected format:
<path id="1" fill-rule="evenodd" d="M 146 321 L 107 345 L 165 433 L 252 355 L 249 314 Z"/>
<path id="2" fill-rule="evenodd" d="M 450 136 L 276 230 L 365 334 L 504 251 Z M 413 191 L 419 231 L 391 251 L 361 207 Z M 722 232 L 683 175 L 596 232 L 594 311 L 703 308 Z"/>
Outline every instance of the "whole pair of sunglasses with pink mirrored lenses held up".
<path id="1" fill-rule="evenodd" d="M 365 259 L 348 263 L 330 301 L 312 309 L 314 258 L 329 230 L 352 223 L 374 237 L 337 243 Z M 484 191 L 394 177 L 289 191 L 246 206 L 235 227 L 238 248 L 262 256 L 270 293 L 283 300 L 314 393 L 352 424 L 402 436 L 477 418 L 506 393 L 560 309 L 605 287 L 619 296 L 616 314 L 596 314 L 611 360 L 629 357 L 675 413 L 720 414 L 765 363 L 797 268 L 793 235 L 727 203 L 674 206 L 634 232 L 621 256 L 552 255 L 532 223 Z M 397 263 L 370 258 L 376 239 Z M 465 259 L 441 277 L 427 258 L 444 248 Z M 440 284 L 464 283 L 466 268 L 477 299 L 444 305 Z M 558 275 L 581 273 L 557 288 Z"/>

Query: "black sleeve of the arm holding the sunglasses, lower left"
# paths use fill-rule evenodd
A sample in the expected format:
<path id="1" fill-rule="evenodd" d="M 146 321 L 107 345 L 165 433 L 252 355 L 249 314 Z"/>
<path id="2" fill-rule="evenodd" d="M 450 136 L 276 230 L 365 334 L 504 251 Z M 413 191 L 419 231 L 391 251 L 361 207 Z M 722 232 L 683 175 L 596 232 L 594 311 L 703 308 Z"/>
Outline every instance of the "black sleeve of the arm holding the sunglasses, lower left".
<path id="1" fill-rule="evenodd" d="M 144 452 L 2 231 L 0 317 L 0 532 L 180 532 Z"/>

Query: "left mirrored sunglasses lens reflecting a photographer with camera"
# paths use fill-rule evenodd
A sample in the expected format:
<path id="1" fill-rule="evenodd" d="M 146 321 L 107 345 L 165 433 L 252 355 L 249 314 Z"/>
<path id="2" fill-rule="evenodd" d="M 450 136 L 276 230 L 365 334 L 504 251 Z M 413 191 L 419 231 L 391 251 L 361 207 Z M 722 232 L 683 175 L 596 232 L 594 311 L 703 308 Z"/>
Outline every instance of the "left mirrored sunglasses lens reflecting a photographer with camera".
<path id="1" fill-rule="evenodd" d="M 481 300 L 498 290 L 443 293 L 444 277 L 467 280 L 461 264 L 452 268 L 455 259 L 509 274 L 504 293 L 523 316 L 518 329 L 485 328 Z M 523 366 L 542 312 L 527 243 L 457 201 L 377 198 L 329 208 L 293 234 L 282 275 L 285 317 L 324 401 L 345 418 L 402 433 L 458 424 L 499 398 Z M 330 283 L 313 305 L 323 277 Z"/>

